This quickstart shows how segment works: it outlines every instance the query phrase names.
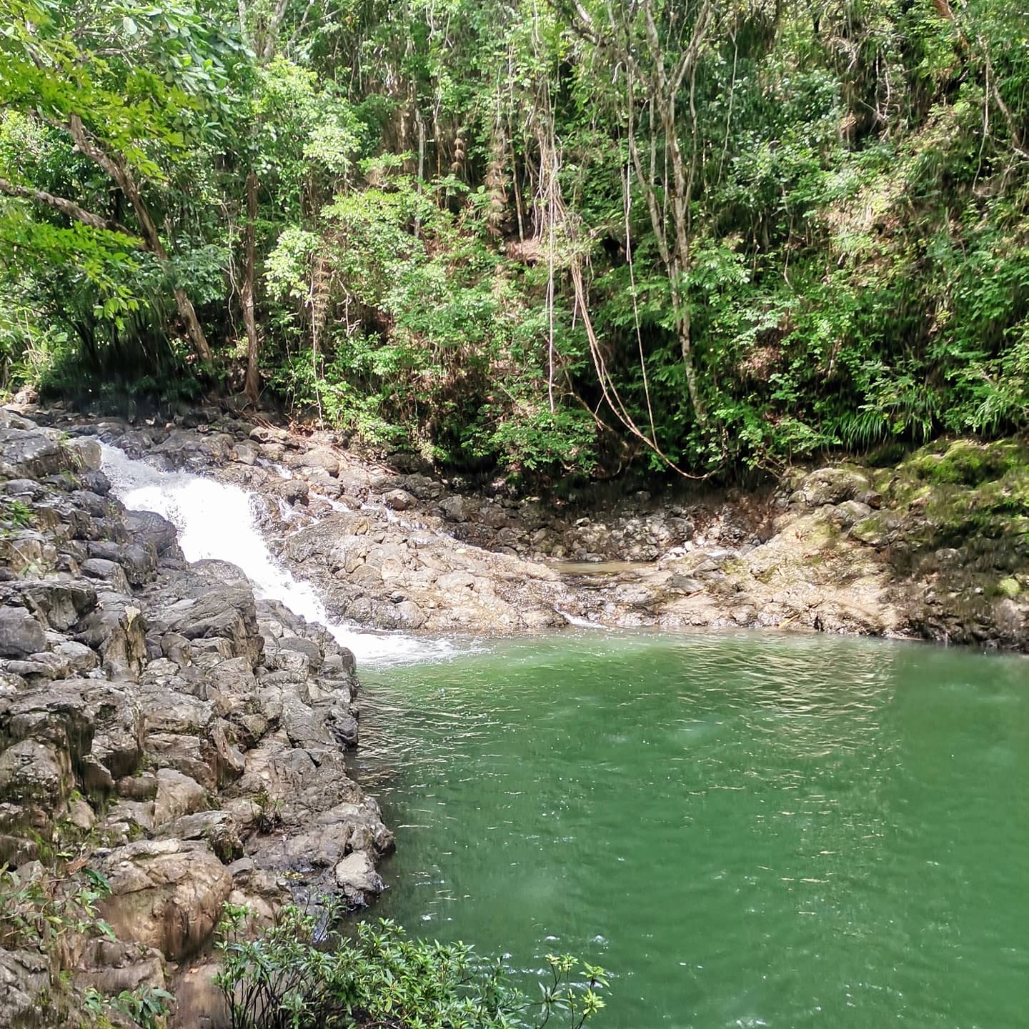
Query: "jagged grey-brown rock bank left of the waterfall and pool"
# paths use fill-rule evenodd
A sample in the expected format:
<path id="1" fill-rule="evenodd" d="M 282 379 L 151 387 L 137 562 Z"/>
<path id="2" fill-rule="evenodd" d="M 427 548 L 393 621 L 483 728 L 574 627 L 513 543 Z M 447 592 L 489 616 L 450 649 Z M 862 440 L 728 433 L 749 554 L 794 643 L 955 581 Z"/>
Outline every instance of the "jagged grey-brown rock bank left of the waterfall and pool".
<path id="1" fill-rule="evenodd" d="M 234 566 L 184 561 L 112 496 L 95 438 L 0 411 L 0 1025 L 166 986 L 174 1024 L 207 1024 L 226 901 L 259 924 L 382 889 L 393 837 L 344 756 L 353 657 Z M 83 900 L 85 866 L 106 885 Z"/>

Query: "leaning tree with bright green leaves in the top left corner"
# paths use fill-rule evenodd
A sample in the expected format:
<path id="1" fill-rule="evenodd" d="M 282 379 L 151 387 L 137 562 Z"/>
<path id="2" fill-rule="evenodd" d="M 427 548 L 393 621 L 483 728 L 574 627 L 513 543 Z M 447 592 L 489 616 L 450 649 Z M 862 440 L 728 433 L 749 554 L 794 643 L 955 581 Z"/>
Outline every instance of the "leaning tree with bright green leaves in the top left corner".
<path id="1" fill-rule="evenodd" d="M 8 26 L 0 34 L 0 110 L 65 134 L 128 203 L 136 227 L 20 181 L 17 168 L 0 169 L 0 190 L 91 228 L 138 238 L 169 281 L 198 358 L 209 362 L 210 345 L 148 192 L 168 181 L 205 128 L 223 115 L 242 47 L 189 7 L 3 0 L 0 11 Z M 110 196 L 107 206 L 119 205 Z"/>

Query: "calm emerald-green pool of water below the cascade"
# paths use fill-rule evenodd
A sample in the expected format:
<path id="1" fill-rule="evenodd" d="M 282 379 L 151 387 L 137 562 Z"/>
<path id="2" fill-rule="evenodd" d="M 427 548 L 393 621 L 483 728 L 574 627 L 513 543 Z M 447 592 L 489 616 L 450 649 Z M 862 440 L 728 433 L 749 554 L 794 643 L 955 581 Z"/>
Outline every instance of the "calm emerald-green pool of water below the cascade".
<path id="1" fill-rule="evenodd" d="M 604 965 L 598 1027 L 1029 1024 L 1026 660 L 587 632 L 364 680 L 375 915 Z"/>

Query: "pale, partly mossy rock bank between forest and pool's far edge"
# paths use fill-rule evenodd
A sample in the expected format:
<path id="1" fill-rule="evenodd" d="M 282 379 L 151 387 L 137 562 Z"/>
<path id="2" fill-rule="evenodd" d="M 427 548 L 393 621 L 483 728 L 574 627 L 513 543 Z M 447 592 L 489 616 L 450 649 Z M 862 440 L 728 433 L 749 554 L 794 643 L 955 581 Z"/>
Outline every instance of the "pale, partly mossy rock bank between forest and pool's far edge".
<path id="1" fill-rule="evenodd" d="M 215 412 L 87 431 L 265 499 L 282 562 L 336 617 L 425 633 L 776 628 L 1029 649 L 1029 448 L 930 445 L 793 469 L 753 496 L 589 511 L 362 461 L 339 437 Z"/>

